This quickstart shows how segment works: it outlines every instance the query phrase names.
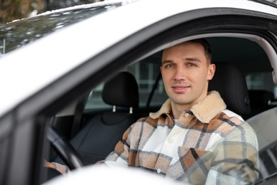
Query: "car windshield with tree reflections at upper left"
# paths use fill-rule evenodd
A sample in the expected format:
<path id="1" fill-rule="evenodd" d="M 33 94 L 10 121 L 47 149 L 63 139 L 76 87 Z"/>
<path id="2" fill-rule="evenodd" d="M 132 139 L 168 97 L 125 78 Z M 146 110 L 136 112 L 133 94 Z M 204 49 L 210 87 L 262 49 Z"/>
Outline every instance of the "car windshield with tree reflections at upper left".
<path id="1" fill-rule="evenodd" d="M 3 24 L 0 26 L 0 57 L 60 28 L 121 5 L 121 3 L 113 3 L 77 6 Z"/>

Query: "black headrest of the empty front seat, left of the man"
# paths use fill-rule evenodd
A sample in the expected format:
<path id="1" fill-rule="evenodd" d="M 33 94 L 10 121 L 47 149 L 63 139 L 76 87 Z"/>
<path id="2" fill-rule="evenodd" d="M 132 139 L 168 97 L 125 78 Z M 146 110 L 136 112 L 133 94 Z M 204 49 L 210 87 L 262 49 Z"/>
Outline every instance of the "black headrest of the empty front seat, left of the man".
<path id="1" fill-rule="evenodd" d="M 105 83 L 102 98 L 109 105 L 139 107 L 139 85 L 134 75 L 120 72 Z"/>

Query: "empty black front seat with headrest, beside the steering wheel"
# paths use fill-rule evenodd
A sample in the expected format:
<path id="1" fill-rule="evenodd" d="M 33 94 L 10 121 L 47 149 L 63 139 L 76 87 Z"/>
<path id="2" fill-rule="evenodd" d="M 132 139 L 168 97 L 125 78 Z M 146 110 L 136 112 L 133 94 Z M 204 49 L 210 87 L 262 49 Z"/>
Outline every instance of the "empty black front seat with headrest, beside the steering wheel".
<path id="1" fill-rule="evenodd" d="M 77 149 L 85 165 L 105 159 L 136 118 L 130 113 L 139 107 L 139 86 L 134 75 L 120 72 L 105 83 L 102 99 L 115 107 L 126 107 L 125 112 L 102 112 L 87 122 L 87 125 L 70 141 Z M 56 160 L 55 160 L 56 161 Z M 61 162 L 61 161 L 56 161 Z"/>

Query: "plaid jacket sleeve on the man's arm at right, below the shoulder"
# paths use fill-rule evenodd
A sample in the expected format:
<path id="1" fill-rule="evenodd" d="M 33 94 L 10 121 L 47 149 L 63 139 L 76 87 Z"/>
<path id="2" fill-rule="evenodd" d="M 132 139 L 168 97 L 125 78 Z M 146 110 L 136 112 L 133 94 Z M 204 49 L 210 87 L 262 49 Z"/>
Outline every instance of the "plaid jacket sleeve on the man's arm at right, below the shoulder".
<path id="1" fill-rule="evenodd" d="M 206 184 L 252 184 L 259 179 L 259 146 L 246 122 L 214 148 Z"/>

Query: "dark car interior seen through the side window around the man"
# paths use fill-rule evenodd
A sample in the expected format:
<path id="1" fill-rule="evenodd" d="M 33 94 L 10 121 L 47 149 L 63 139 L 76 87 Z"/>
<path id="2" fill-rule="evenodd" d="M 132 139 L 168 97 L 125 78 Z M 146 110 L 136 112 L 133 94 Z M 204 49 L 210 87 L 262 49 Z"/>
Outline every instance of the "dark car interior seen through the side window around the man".
<path id="1" fill-rule="evenodd" d="M 262 184 L 277 172 L 277 137 L 272 129 L 277 115 L 277 88 L 272 77 L 276 53 L 258 36 L 222 33 L 201 37 L 210 43 L 217 69 L 209 91 L 219 91 L 227 108 L 241 115 L 258 135 L 261 169 L 257 184 Z M 189 40 L 176 42 L 184 39 Z M 115 71 L 50 117 L 48 125 L 55 133 L 48 134 L 52 142 L 45 159 L 71 169 L 95 164 L 113 151 L 131 124 L 156 112 L 168 98 L 160 73 L 161 51 L 166 46 Z M 62 138 L 62 144 L 53 142 L 57 140 L 53 137 Z M 72 160 L 75 156 L 80 157 L 78 164 Z"/>

